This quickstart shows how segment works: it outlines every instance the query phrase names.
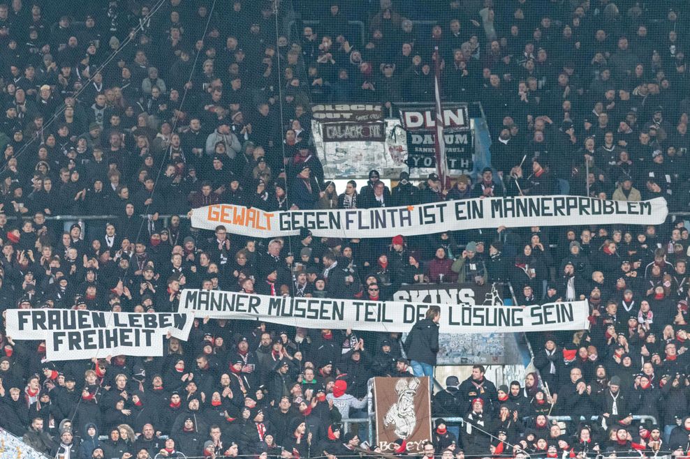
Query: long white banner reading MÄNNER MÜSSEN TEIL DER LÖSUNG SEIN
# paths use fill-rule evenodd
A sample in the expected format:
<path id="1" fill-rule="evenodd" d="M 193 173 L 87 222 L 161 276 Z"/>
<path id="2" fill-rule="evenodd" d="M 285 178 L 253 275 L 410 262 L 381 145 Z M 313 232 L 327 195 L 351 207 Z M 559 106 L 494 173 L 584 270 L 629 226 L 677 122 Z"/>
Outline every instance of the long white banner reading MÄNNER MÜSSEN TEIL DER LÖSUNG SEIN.
<path id="1" fill-rule="evenodd" d="M 257 319 L 311 329 L 355 329 L 404 333 L 432 304 L 265 296 L 184 289 L 178 313 L 212 319 Z M 436 304 L 441 333 L 490 333 L 589 329 L 587 301 L 532 306 Z"/>

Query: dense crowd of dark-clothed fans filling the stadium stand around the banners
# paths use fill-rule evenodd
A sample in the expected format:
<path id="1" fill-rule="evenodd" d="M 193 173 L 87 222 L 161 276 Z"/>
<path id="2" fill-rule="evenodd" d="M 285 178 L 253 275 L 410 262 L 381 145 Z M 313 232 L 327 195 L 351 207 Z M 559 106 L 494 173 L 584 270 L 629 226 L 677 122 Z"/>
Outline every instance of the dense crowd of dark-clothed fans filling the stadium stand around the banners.
<path id="1" fill-rule="evenodd" d="M 684 456 L 682 216 L 270 241 L 185 216 L 559 193 L 688 211 L 689 22 L 683 0 L 0 3 L 0 310 L 162 312 L 184 287 L 386 300 L 405 284 L 510 282 L 521 305 L 589 300 L 591 327 L 531 333 L 524 381 L 448 377 L 434 416 L 466 422 L 436 420 L 424 455 Z M 365 186 L 337 190 L 310 103 L 431 102 L 436 48 L 443 98 L 483 105 L 492 167 L 445 190 L 371 165 Z M 0 333 L 0 426 L 69 459 L 354 456 L 366 435 L 342 421 L 364 416 L 367 380 L 433 375 L 437 321 L 430 310 L 403 340 L 198 319 L 163 357 L 68 362 Z"/>

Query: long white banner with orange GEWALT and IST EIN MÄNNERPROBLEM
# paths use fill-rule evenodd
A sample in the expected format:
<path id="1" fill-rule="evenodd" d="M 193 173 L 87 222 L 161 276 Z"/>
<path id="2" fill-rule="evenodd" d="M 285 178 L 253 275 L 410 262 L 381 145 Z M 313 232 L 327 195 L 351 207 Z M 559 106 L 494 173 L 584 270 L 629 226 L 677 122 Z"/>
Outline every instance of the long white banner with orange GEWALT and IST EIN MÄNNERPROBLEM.
<path id="1" fill-rule="evenodd" d="M 194 209 L 191 224 L 232 234 L 270 238 L 294 236 L 307 228 L 315 236 L 348 238 L 413 236 L 443 231 L 526 226 L 659 225 L 668 207 L 663 197 L 649 201 L 612 201 L 582 196 L 490 197 L 377 209 L 266 212 L 214 204 Z"/>

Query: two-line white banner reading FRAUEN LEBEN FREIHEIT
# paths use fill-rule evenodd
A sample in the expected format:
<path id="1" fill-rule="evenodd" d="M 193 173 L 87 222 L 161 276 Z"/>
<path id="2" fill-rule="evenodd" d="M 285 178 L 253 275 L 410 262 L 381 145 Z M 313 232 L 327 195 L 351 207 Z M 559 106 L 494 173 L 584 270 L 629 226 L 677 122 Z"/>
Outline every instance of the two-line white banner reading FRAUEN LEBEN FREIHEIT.
<path id="1" fill-rule="evenodd" d="M 191 315 L 103 313 L 72 309 L 8 309 L 7 335 L 14 340 L 45 340 L 50 361 L 108 355 L 162 356 L 163 336 L 186 340 Z"/>

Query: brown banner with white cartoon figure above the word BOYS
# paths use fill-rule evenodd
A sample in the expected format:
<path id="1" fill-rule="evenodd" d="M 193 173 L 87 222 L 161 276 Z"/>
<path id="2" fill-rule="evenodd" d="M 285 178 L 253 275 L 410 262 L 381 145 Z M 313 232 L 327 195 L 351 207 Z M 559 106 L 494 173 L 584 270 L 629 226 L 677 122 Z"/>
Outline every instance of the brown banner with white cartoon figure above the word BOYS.
<path id="1" fill-rule="evenodd" d="M 406 453 L 421 453 L 432 440 L 429 377 L 375 377 L 376 446 L 395 453 L 397 439 Z M 403 453 L 405 454 L 405 453 Z"/>

